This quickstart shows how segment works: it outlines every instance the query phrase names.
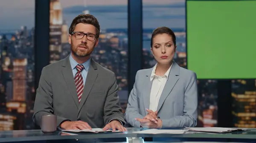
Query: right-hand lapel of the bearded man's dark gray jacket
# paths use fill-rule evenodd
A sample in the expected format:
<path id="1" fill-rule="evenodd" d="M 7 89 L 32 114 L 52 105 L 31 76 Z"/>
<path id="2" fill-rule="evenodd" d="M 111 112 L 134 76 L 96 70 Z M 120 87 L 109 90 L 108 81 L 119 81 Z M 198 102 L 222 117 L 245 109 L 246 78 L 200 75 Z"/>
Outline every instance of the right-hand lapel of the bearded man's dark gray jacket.
<path id="1" fill-rule="evenodd" d="M 90 64 L 90 68 L 88 70 L 86 81 L 84 84 L 84 91 L 83 91 L 81 101 L 79 104 L 78 112 L 80 112 L 81 108 L 83 107 L 84 102 L 86 101 L 86 99 L 90 93 L 90 90 L 92 89 L 93 84 L 98 76 L 98 69 L 97 69 L 96 63 L 93 61 L 92 58 L 91 58 L 90 63 L 91 64 Z"/>

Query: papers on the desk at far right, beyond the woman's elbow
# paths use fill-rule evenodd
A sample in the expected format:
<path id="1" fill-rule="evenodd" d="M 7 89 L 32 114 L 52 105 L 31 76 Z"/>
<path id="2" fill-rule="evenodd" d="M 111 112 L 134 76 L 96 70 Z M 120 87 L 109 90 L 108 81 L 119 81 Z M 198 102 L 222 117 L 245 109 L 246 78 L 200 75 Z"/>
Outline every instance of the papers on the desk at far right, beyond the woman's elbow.
<path id="1" fill-rule="evenodd" d="M 216 132 L 216 133 L 224 133 L 224 132 L 234 132 L 234 131 L 246 131 L 247 129 L 231 129 L 231 128 L 221 128 L 221 127 L 204 127 L 204 128 L 188 128 L 189 131 L 196 132 Z"/>

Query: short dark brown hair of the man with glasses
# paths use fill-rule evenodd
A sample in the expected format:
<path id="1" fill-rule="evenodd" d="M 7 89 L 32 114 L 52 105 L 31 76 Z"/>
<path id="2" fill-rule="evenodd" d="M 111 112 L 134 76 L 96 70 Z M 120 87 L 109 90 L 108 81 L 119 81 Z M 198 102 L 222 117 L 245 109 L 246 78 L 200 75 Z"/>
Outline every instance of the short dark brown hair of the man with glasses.
<path id="1" fill-rule="evenodd" d="M 79 23 L 84 23 L 84 24 L 91 24 L 96 27 L 96 35 L 99 37 L 99 22 L 98 20 L 91 14 L 80 14 L 77 17 L 75 17 L 70 25 L 69 28 L 69 34 L 72 34 L 72 32 L 75 30 L 75 27 Z"/>

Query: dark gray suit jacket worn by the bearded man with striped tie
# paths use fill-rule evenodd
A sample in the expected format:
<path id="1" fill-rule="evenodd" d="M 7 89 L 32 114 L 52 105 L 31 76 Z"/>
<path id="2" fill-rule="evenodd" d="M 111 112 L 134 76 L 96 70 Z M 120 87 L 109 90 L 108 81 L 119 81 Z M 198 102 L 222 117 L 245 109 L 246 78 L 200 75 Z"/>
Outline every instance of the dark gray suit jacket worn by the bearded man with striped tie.
<path id="1" fill-rule="evenodd" d="M 91 59 L 79 104 L 69 56 L 43 68 L 36 91 L 33 121 L 40 126 L 42 115 L 57 115 L 63 121 L 84 121 L 103 128 L 111 119 L 125 124 L 117 95 L 115 74 Z"/>

